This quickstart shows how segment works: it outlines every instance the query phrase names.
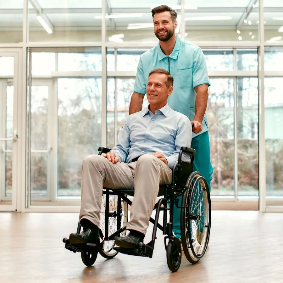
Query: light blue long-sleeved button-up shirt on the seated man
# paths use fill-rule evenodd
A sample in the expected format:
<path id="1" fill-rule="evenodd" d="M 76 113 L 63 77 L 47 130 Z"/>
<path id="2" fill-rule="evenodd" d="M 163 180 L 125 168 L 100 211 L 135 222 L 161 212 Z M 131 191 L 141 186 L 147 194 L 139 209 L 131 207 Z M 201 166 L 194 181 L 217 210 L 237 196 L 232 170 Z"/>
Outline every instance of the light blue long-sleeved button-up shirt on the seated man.
<path id="1" fill-rule="evenodd" d="M 160 151 L 172 169 L 178 163 L 180 148 L 191 147 L 191 132 L 188 117 L 168 104 L 156 110 L 155 115 L 147 107 L 127 117 L 112 151 L 119 157 L 119 162 L 125 163 L 140 155 Z M 182 160 L 190 162 L 186 154 Z"/>

